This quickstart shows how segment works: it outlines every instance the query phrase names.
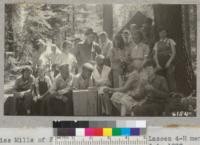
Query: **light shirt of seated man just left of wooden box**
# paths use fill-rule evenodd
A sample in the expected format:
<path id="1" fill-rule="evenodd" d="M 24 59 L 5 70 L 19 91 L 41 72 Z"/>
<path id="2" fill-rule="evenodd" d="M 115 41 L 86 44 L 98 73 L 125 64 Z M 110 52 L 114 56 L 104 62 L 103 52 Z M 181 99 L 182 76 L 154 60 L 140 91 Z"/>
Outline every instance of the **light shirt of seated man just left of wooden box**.
<path id="1" fill-rule="evenodd" d="M 62 89 L 71 88 L 72 84 L 73 84 L 72 74 L 70 74 L 66 80 L 64 80 L 63 77 L 59 74 L 56 77 L 55 82 L 53 83 L 52 88 L 50 89 L 50 92 L 54 93 Z"/>

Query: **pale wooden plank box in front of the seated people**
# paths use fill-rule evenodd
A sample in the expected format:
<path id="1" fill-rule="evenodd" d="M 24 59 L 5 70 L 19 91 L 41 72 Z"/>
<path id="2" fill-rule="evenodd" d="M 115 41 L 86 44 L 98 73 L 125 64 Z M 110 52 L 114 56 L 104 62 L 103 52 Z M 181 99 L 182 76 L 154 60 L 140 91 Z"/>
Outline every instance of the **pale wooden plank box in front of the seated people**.
<path id="1" fill-rule="evenodd" d="M 73 91 L 74 116 L 97 116 L 97 90 Z"/>

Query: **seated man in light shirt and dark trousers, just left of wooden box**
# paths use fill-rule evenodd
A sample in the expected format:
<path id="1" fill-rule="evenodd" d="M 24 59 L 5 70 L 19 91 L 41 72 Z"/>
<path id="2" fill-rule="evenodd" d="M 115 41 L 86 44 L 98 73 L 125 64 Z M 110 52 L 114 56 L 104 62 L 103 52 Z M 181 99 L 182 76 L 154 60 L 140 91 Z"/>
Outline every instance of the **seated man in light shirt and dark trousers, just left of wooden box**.
<path id="1" fill-rule="evenodd" d="M 56 77 L 48 100 L 48 115 L 73 115 L 72 82 L 69 65 L 60 66 L 60 74 Z"/>

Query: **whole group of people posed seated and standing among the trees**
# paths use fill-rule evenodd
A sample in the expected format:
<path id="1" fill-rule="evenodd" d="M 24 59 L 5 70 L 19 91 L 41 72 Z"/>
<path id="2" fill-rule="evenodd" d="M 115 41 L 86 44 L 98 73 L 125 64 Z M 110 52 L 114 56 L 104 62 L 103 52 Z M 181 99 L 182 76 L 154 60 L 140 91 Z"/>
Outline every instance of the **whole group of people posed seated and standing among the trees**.
<path id="1" fill-rule="evenodd" d="M 26 66 L 14 87 L 17 115 L 73 115 L 73 90 L 96 88 L 98 115 L 159 116 L 176 90 L 176 43 L 165 28 L 154 40 L 152 20 L 132 24 L 111 41 L 93 29 L 72 50 L 51 46 L 45 63 Z M 80 101 L 81 103 L 81 101 Z M 93 108 L 91 108 L 93 109 Z"/>

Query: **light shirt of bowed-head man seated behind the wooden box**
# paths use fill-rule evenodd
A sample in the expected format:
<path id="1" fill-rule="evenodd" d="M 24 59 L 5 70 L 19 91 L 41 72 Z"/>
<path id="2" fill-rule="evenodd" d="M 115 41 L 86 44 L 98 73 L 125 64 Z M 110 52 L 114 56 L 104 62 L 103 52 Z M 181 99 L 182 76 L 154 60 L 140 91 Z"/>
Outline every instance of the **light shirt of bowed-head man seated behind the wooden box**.
<path id="1" fill-rule="evenodd" d="M 73 87 L 75 89 L 88 89 L 88 87 L 93 86 L 92 77 L 89 79 L 84 79 L 81 74 L 74 77 Z"/>

